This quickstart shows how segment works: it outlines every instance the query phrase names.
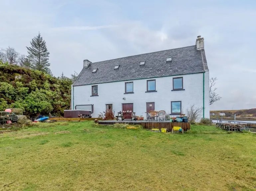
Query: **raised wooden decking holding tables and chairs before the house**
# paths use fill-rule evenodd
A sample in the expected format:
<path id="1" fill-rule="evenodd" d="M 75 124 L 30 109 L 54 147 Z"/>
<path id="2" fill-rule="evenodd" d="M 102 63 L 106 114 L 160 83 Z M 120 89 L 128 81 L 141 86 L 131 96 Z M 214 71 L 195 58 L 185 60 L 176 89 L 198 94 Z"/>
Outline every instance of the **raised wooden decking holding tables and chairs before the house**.
<path id="1" fill-rule="evenodd" d="M 182 127 L 184 131 L 187 131 L 190 129 L 190 123 L 189 122 L 170 122 L 170 121 L 131 121 L 131 120 L 123 120 L 123 121 L 98 121 L 98 124 L 101 125 L 113 125 L 115 123 L 128 123 L 128 124 L 137 124 L 142 125 L 146 129 L 152 129 L 152 128 L 167 128 L 169 131 L 172 130 L 174 126 Z"/>

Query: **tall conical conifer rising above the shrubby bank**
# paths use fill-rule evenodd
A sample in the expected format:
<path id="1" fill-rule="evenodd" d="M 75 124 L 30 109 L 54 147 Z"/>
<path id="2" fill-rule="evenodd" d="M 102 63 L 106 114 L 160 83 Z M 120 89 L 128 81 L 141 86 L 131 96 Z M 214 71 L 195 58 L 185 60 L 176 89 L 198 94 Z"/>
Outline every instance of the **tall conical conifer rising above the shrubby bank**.
<path id="1" fill-rule="evenodd" d="M 46 41 L 43 40 L 40 32 L 32 39 L 30 44 L 31 47 L 26 47 L 28 49 L 27 58 L 31 63 L 32 68 L 51 74 L 51 70 L 49 68 L 50 63 L 48 62 L 50 52 L 48 52 Z"/>

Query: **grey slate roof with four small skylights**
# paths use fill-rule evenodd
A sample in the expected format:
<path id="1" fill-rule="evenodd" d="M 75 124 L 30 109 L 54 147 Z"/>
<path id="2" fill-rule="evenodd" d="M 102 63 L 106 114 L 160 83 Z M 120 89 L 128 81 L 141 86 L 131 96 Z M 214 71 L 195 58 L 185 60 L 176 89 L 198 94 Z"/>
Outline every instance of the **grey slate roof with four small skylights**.
<path id="1" fill-rule="evenodd" d="M 172 57 L 171 62 L 166 62 L 168 57 Z M 141 61 L 146 61 L 145 65 L 140 66 Z M 120 67 L 114 70 L 116 65 Z M 92 72 L 96 68 L 97 72 Z M 196 50 L 193 45 L 91 63 L 82 69 L 73 85 L 200 73 L 207 70 L 204 50 Z"/>

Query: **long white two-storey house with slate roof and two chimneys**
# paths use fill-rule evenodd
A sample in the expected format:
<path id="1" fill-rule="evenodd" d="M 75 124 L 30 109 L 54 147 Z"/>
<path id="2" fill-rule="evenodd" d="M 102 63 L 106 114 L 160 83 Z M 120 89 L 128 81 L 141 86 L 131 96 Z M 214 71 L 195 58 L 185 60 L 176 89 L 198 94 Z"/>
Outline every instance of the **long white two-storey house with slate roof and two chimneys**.
<path id="1" fill-rule="evenodd" d="M 204 39 L 195 45 L 128 56 L 101 62 L 83 61 L 72 85 L 72 109 L 93 105 L 92 117 L 107 108 L 133 111 L 144 116 L 150 110 L 170 115 L 186 114 L 195 105 L 209 118 L 209 70 Z"/>

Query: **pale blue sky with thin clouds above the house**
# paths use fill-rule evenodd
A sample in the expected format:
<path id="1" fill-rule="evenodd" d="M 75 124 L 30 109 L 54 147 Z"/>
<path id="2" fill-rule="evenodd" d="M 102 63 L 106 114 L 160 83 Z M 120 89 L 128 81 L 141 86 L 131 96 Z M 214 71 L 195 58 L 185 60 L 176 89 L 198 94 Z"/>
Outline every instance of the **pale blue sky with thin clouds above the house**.
<path id="1" fill-rule="evenodd" d="M 55 76 L 79 73 L 84 59 L 190 46 L 201 35 L 222 97 L 210 109 L 256 108 L 254 0 L 0 0 L 0 10 L 0 48 L 27 55 L 40 31 Z"/>

